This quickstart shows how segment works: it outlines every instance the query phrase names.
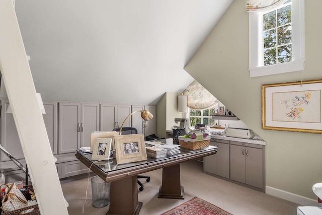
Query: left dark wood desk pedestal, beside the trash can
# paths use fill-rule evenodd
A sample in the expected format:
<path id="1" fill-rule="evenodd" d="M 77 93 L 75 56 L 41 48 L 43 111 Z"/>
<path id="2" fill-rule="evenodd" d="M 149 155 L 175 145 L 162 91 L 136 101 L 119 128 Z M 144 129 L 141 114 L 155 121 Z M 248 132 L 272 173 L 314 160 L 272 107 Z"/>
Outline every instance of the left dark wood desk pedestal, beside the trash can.
<path id="1" fill-rule="evenodd" d="M 111 182 L 108 214 L 139 214 L 142 202 L 138 201 L 136 175 Z"/>

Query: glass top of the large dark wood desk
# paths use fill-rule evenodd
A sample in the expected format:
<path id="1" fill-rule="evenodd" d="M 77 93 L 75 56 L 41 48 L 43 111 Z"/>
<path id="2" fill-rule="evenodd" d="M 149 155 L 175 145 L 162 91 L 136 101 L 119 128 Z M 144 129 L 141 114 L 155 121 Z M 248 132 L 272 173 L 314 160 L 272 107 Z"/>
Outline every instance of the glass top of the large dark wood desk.
<path id="1" fill-rule="evenodd" d="M 173 139 L 168 138 L 168 139 L 162 139 L 162 140 L 157 140 L 157 141 L 147 141 L 145 142 L 146 146 L 151 146 L 148 144 L 148 142 L 161 142 L 163 144 L 173 144 Z M 130 167 L 137 167 L 137 166 L 146 166 L 149 164 L 153 164 L 156 162 L 160 161 L 166 161 L 166 160 L 171 160 L 171 159 L 177 159 L 180 157 L 185 157 L 185 156 L 190 156 L 193 154 L 198 154 L 201 152 L 205 151 L 214 151 L 216 148 L 215 146 L 208 146 L 202 149 L 197 149 L 197 150 L 190 150 L 190 149 L 185 149 L 181 148 L 181 152 L 178 154 L 175 154 L 173 156 L 167 155 L 166 157 L 162 158 L 152 158 L 152 157 L 147 157 L 147 160 L 144 161 L 138 161 L 138 162 L 132 162 L 132 163 L 125 163 L 125 164 L 117 164 L 116 163 L 116 158 L 110 158 L 109 160 L 92 160 L 92 154 L 81 154 L 77 151 L 78 154 L 81 154 L 84 158 L 86 158 L 88 161 L 93 162 L 93 165 L 96 165 L 100 170 L 102 170 L 105 173 L 117 171 L 117 170 L 122 170 Z"/>

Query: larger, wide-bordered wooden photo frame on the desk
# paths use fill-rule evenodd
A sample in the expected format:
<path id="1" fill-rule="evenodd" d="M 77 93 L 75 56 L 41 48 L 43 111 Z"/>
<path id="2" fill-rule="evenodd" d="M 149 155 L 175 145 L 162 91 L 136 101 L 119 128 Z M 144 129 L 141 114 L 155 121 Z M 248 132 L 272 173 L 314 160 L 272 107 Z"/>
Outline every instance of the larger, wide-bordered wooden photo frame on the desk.
<path id="1" fill-rule="evenodd" d="M 147 160 L 143 134 L 114 136 L 116 163 Z"/>

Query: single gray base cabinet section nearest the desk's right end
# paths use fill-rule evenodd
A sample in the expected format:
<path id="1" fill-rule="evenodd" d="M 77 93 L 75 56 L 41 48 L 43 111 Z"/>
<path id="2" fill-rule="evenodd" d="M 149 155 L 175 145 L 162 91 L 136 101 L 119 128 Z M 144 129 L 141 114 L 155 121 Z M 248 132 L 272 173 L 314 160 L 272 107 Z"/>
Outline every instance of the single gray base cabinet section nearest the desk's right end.
<path id="1" fill-rule="evenodd" d="M 229 141 L 211 139 L 211 146 L 218 146 L 217 153 L 204 157 L 204 171 L 229 178 Z"/>

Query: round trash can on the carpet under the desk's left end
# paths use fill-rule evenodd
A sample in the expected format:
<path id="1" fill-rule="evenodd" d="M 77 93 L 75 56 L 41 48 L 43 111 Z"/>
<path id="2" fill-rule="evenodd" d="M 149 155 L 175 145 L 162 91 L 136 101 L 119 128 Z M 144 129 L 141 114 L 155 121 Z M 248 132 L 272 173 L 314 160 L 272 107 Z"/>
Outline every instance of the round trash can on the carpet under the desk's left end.
<path id="1" fill-rule="evenodd" d="M 110 203 L 110 182 L 105 182 L 99 176 L 92 179 L 92 199 L 94 207 L 105 207 Z"/>

